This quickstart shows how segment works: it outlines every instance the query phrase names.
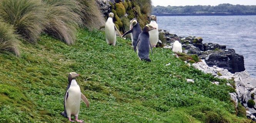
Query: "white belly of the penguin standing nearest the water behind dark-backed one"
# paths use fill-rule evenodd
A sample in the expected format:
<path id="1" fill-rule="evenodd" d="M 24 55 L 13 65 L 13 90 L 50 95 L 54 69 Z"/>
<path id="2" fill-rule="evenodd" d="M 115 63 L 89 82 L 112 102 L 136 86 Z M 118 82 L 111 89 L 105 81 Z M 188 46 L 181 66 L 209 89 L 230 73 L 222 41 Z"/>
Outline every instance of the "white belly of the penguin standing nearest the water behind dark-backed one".
<path id="1" fill-rule="evenodd" d="M 149 41 L 150 41 L 151 47 L 154 47 L 156 46 L 159 38 L 158 24 L 156 22 L 151 22 L 150 25 L 156 28 L 155 30 L 149 31 Z"/>

